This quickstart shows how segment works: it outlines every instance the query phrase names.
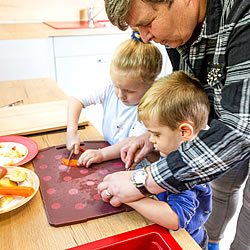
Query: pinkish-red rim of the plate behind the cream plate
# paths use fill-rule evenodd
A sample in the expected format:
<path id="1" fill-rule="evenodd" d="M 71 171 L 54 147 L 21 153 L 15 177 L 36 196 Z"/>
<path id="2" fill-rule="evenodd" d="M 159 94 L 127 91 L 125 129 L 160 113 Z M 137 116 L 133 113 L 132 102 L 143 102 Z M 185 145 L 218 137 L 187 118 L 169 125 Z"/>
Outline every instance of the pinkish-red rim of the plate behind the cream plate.
<path id="1" fill-rule="evenodd" d="M 38 153 L 38 146 L 36 142 L 24 136 L 18 136 L 18 135 L 0 136 L 0 142 L 16 142 L 16 143 L 23 144 L 28 149 L 27 156 L 23 160 L 15 164 L 18 166 L 29 162 Z"/>

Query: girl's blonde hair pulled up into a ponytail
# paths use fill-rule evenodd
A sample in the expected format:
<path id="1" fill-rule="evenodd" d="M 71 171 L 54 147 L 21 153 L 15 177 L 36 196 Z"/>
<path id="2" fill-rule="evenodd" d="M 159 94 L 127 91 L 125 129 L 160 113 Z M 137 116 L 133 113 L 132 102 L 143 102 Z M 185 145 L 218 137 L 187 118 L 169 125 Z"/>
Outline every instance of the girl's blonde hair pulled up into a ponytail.
<path id="1" fill-rule="evenodd" d="M 110 71 L 121 70 L 138 78 L 145 84 L 152 84 L 160 74 L 162 54 L 152 43 L 134 39 L 122 42 L 115 50 Z"/>

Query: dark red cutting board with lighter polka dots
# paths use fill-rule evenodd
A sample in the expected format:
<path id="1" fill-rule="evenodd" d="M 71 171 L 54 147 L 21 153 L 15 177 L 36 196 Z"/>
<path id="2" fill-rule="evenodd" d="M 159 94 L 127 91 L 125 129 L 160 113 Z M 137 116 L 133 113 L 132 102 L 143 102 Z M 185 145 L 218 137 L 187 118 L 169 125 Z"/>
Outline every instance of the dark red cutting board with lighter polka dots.
<path id="1" fill-rule="evenodd" d="M 105 141 L 84 141 L 84 149 L 107 147 Z M 89 219 L 132 210 L 126 205 L 112 207 L 102 201 L 97 186 L 105 175 L 125 170 L 120 159 L 93 164 L 89 168 L 67 167 L 62 158 L 68 158 L 66 145 L 45 148 L 33 160 L 40 179 L 40 192 L 48 221 L 53 226 L 70 225 Z M 78 159 L 73 155 L 72 159 Z"/>

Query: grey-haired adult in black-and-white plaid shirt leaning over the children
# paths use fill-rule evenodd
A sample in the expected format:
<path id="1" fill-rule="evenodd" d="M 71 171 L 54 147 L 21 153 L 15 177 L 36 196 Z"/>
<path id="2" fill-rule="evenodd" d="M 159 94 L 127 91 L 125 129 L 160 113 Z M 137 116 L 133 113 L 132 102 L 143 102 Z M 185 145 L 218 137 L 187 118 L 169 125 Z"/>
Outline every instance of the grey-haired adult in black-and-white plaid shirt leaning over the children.
<path id="1" fill-rule="evenodd" d="M 105 177 L 99 185 L 102 198 L 113 206 L 119 206 L 143 197 L 142 189 L 144 193 L 164 190 L 178 193 L 230 170 L 217 179 L 223 183 L 218 195 L 222 194 L 224 186 L 226 194 L 221 195 L 222 198 L 216 197 L 221 201 L 219 204 L 213 201 L 213 209 L 218 212 L 218 207 L 225 207 L 221 205 L 223 202 L 230 208 L 231 193 L 237 193 L 248 176 L 250 1 L 105 0 L 105 6 L 110 21 L 120 29 L 137 27 L 145 42 L 153 40 L 166 45 L 173 69 L 191 73 L 204 84 L 210 99 L 211 114 L 208 131 L 200 132 L 191 146 L 181 146 L 166 159 L 146 168 L 146 174 L 139 176 L 136 185 L 131 181 L 134 171 Z M 121 156 L 126 167 L 153 150 L 148 138 L 149 135 L 145 134 L 123 149 Z M 134 158 L 138 149 L 141 151 Z M 217 180 L 214 188 L 218 187 Z M 238 228 L 242 231 L 237 229 L 231 249 L 249 249 L 249 237 L 244 235 L 249 232 L 247 227 L 250 225 L 249 212 L 246 210 L 250 205 L 249 186 L 248 178 L 245 203 L 238 222 Z M 226 201 L 225 196 L 229 197 Z M 235 204 L 237 200 L 233 202 Z M 231 215 L 227 211 L 224 213 L 217 214 L 215 218 L 228 218 L 234 211 L 230 211 Z M 226 222 L 221 223 L 223 228 Z M 223 231 L 213 236 L 218 238 L 210 239 L 219 241 L 222 234 Z"/>

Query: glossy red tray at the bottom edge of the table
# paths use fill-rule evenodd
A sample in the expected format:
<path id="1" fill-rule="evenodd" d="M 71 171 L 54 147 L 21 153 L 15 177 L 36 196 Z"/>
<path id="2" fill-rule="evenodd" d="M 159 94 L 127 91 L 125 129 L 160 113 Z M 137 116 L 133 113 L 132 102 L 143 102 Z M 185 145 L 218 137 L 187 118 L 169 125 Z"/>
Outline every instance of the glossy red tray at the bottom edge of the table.
<path id="1" fill-rule="evenodd" d="M 164 227 L 156 224 L 93 241 L 70 250 L 181 250 L 180 245 Z M 68 250 L 69 250 L 68 249 Z"/>

